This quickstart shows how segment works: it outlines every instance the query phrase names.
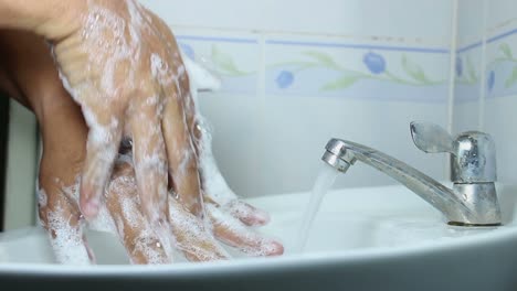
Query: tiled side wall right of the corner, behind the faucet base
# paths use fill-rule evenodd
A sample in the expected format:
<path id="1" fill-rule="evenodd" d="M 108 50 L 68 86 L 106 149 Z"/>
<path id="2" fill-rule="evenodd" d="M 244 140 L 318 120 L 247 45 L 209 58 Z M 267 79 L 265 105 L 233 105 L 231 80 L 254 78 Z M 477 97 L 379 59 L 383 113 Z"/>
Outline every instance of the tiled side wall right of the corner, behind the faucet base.
<path id="1" fill-rule="evenodd" d="M 517 2 L 460 0 L 458 28 L 455 129 L 490 133 L 499 181 L 515 183 Z"/>

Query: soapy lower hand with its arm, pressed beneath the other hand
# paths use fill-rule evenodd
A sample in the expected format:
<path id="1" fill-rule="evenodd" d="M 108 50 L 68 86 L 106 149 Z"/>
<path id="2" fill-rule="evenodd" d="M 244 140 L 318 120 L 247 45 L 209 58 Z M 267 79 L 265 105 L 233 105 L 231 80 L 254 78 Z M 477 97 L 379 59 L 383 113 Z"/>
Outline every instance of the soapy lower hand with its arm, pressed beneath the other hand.
<path id="1" fill-rule="evenodd" d="M 3 84 L 11 96 L 36 114 L 42 130 L 44 147 L 39 181 L 41 222 L 49 230 L 60 262 L 88 263 L 94 260 L 94 256 L 83 236 L 86 222 L 77 204 L 77 176 L 83 168 L 87 134 L 81 110 L 62 88 L 41 39 L 11 31 L 3 32 L 0 40 L 3 40 L 0 47 L 4 56 L 0 62 L 0 73 L 3 73 L 0 76 L 6 76 L 7 72 L 10 74 L 3 82 L 0 78 L 0 85 Z M 183 87 L 191 85 L 196 88 L 193 80 L 205 80 L 205 72 L 196 64 L 187 63 L 187 69 L 189 74 L 192 72 L 193 77 L 191 84 L 183 84 Z M 201 161 L 197 163 L 200 168 L 189 174 L 198 179 L 198 170 L 202 173 L 207 218 L 210 220 L 205 223 L 202 215 L 192 212 L 184 201 L 176 198 L 177 187 L 172 187 L 167 205 L 171 228 L 165 228 L 172 230 L 163 231 L 163 228 L 156 227 L 143 207 L 133 159 L 126 153 L 117 155 L 108 187 L 103 193 L 106 203 L 101 206 L 96 219 L 88 225 L 117 234 L 135 263 L 170 262 L 172 249 L 179 249 L 190 260 L 228 258 L 229 255 L 217 239 L 250 255 L 281 255 L 282 245 L 245 227 L 265 224 L 267 216 L 238 201 L 228 187 L 211 155 L 207 126 L 201 122 L 194 100 L 190 98 L 196 96 L 184 96 L 181 106 L 189 103 L 192 108 L 184 119 L 190 123 L 186 125 L 187 128 L 197 129 L 192 133 L 192 144 Z M 201 193 L 200 188 L 196 193 Z"/>

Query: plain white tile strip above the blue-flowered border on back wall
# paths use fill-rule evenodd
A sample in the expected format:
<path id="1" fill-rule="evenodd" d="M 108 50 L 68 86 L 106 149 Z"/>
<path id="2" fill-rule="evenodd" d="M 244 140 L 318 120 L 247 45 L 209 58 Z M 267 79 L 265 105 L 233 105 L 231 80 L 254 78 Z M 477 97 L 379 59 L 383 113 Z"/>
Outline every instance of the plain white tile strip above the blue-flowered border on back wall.
<path id="1" fill-rule="evenodd" d="M 340 35 L 429 37 L 447 42 L 450 0 L 146 0 L 168 23 L 201 28 Z M 416 23 L 416 24 L 415 24 Z"/>

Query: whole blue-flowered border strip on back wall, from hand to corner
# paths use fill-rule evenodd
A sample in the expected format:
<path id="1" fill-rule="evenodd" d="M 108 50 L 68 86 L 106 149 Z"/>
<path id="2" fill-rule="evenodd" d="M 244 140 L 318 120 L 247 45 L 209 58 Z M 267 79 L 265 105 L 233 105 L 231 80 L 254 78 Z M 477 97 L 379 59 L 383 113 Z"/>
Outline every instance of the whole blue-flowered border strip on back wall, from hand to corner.
<path id="1" fill-rule="evenodd" d="M 447 98 L 449 48 L 400 42 L 181 32 L 187 56 L 221 77 L 225 93 L 408 101 Z M 263 50 L 263 51 L 262 51 Z M 262 73 L 263 72 L 263 73 Z M 264 84 L 261 84 L 264 74 Z"/>

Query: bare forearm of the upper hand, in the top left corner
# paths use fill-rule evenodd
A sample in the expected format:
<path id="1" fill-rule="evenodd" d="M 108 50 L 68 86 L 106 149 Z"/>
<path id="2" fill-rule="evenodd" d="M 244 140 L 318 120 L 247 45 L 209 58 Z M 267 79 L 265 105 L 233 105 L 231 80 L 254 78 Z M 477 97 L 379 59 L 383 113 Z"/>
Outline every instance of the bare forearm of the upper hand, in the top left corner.
<path id="1" fill-rule="evenodd" d="M 0 0 L 0 28 L 60 39 L 78 25 L 84 0 Z"/>

